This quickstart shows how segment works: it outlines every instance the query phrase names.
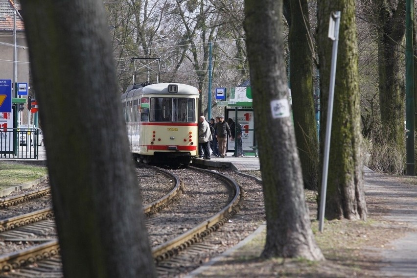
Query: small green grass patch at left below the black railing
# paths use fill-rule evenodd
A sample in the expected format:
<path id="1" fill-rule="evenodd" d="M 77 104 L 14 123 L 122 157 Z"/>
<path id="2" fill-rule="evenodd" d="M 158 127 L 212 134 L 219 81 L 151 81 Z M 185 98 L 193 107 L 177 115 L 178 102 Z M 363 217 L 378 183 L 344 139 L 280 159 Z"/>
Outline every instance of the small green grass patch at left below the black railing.
<path id="1" fill-rule="evenodd" d="M 46 166 L 0 162 L 0 190 L 32 182 L 46 175 Z"/>

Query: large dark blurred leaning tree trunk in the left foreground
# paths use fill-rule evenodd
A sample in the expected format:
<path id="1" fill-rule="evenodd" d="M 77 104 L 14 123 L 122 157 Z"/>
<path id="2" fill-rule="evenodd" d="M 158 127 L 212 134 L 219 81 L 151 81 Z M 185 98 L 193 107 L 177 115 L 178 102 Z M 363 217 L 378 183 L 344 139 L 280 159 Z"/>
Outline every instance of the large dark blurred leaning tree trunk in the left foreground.
<path id="1" fill-rule="evenodd" d="M 22 0 L 65 277 L 156 277 L 102 3 Z"/>

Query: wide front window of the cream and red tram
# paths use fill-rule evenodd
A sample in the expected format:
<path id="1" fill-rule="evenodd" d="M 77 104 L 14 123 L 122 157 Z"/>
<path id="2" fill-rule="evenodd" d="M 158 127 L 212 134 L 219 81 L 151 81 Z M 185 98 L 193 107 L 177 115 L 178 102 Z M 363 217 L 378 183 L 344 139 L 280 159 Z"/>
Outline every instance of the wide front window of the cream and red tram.
<path id="1" fill-rule="evenodd" d="M 152 97 L 149 109 L 151 122 L 195 122 L 195 99 Z"/>

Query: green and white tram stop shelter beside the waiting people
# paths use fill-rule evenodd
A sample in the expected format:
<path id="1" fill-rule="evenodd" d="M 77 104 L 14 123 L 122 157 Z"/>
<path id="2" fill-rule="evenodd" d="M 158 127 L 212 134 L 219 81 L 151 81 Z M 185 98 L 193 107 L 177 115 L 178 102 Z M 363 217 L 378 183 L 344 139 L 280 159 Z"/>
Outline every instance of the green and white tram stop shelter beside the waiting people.
<path id="1" fill-rule="evenodd" d="M 231 88 L 229 100 L 217 101 L 217 106 L 225 107 L 225 120 L 232 118 L 243 126 L 242 148 L 245 155 L 258 155 L 255 138 L 254 110 L 252 107 L 251 81 L 246 80 L 237 87 Z M 237 148 L 236 141 L 228 141 L 227 151 Z M 236 152 L 234 153 L 236 155 Z"/>

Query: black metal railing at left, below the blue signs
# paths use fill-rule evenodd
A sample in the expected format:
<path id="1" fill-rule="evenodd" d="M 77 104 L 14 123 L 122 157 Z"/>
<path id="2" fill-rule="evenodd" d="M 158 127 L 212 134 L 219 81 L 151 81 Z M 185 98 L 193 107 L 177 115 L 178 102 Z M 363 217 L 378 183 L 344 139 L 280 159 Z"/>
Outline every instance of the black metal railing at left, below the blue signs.
<path id="1" fill-rule="evenodd" d="M 5 128 L 0 130 L 0 158 L 38 159 L 39 128 Z"/>

